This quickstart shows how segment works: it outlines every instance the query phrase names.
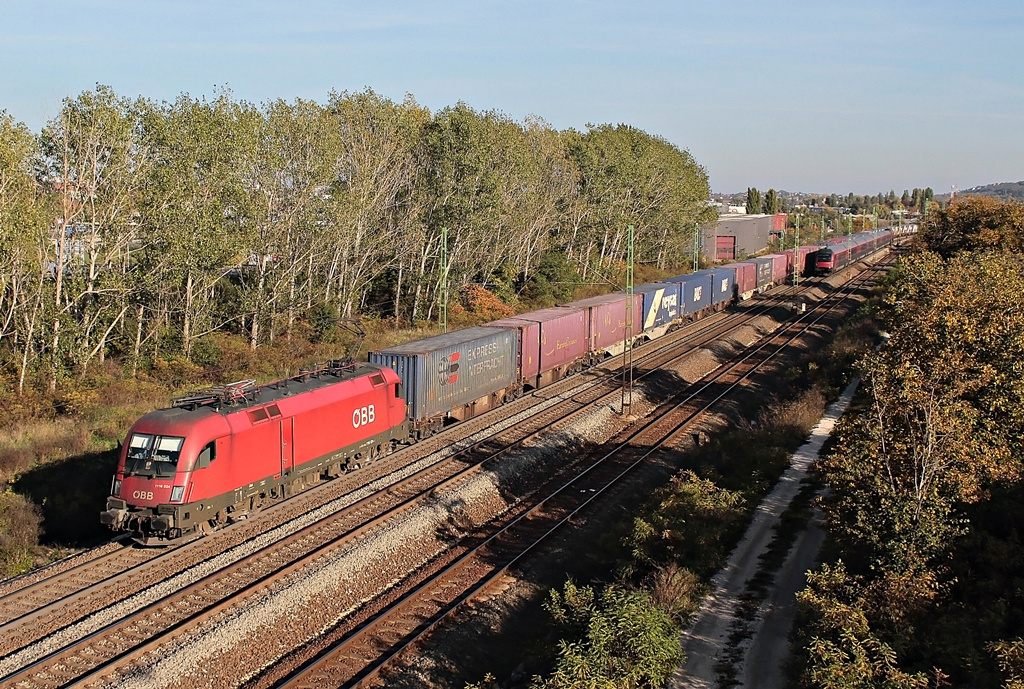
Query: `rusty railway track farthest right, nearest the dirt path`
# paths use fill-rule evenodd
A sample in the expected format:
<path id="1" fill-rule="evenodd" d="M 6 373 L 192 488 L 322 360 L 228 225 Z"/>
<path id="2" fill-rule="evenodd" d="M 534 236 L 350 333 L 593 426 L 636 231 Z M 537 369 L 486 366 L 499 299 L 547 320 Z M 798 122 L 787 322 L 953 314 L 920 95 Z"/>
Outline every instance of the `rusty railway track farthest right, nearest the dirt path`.
<path id="1" fill-rule="evenodd" d="M 866 277 L 866 276 L 865 276 Z M 535 506 L 487 534 L 468 539 L 464 551 L 367 622 L 323 644 L 311 657 L 285 677 L 257 686 L 364 686 L 379 683 L 382 671 L 410 651 L 441 621 L 501 583 L 509 568 L 543 547 L 589 506 L 612 490 L 651 456 L 685 437 L 705 414 L 733 394 L 757 371 L 783 352 L 807 330 L 815 328 L 858 279 L 830 295 L 800 319 L 766 337 L 739 359 L 709 375 L 665 413 L 602 451 L 583 472 L 554 487 Z"/>

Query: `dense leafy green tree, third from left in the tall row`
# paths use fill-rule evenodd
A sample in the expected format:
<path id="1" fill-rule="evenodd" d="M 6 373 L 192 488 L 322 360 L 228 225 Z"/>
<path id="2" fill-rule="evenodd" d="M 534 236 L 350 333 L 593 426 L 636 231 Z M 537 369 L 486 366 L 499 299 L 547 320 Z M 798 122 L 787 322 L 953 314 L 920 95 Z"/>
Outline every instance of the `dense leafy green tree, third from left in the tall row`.
<path id="1" fill-rule="evenodd" d="M 212 296 L 249 259 L 245 152 L 256 145 L 259 119 L 252 105 L 231 101 L 227 92 L 212 101 L 182 95 L 143 118 L 156 162 L 144 197 L 150 234 L 141 265 L 158 277 L 161 293 L 142 320 L 158 332 L 173 324 L 168 335 L 185 356 L 200 337 L 244 315 L 219 311 Z"/>

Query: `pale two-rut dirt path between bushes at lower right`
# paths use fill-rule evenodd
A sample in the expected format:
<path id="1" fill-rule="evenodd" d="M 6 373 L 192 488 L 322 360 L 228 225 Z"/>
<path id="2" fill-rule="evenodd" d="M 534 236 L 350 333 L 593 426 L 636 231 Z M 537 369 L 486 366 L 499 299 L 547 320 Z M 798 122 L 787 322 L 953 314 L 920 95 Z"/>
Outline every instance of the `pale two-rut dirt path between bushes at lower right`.
<path id="1" fill-rule="evenodd" d="M 859 381 L 854 381 L 829 405 L 825 416 L 811 431 L 810 439 L 793 456 L 790 469 L 758 506 L 743 539 L 729 555 L 724 569 L 712 578 L 712 593 L 705 600 L 693 625 L 683 633 L 686 663 L 669 680 L 673 689 L 710 689 L 718 685 L 719 666 L 729 663 L 730 675 L 746 689 L 775 689 L 783 686 L 781 665 L 788 654 L 787 636 L 796 614 L 794 596 L 804 586 L 804 574 L 817 556 L 824 537 L 815 514 L 797 537 L 778 570 L 771 591 L 754 621 L 752 636 L 738 648 L 729 648 L 730 635 L 746 625 L 737 617 L 740 597 L 758 571 L 760 557 L 771 543 L 779 516 L 793 502 L 817 460 L 836 422 L 850 405 Z M 725 654 L 729 651 L 728 656 Z M 738 660 L 736 659 L 738 657 Z"/>

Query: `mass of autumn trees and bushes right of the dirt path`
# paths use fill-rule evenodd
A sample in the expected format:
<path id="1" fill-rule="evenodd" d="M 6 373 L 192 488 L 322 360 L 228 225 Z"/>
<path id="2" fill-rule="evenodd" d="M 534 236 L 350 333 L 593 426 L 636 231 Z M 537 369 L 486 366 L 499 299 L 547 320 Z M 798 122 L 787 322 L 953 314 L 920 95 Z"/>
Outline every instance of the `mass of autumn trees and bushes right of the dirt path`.
<path id="1" fill-rule="evenodd" d="M 820 465 L 842 560 L 801 594 L 805 686 L 994 687 L 1020 672 L 1022 240 L 1024 205 L 958 201 L 892 275 L 865 403 Z"/>

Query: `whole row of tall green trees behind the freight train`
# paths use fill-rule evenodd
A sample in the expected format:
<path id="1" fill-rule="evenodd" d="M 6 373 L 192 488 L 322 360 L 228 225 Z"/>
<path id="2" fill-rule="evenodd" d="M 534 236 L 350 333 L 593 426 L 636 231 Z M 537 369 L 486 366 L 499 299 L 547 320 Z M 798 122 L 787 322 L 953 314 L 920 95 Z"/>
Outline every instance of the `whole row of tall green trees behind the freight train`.
<path id="1" fill-rule="evenodd" d="M 431 116 L 371 90 L 257 106 L 97 86 L 38 137 L 0 116 L 0 355 L 12 389 L 38 374 L 56 394 L 109 354 L 132 374 L 212 363 L 194 356 L 205 336 L 256 349 L 314 308 L 429 316 L 443 228 L 454 287 L 551 299 L 594 270 L 615 281 L 630 224 L 637 262 L 685 261 L 709 191 L 688 152 L 626 125 Z"/>

